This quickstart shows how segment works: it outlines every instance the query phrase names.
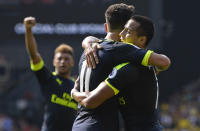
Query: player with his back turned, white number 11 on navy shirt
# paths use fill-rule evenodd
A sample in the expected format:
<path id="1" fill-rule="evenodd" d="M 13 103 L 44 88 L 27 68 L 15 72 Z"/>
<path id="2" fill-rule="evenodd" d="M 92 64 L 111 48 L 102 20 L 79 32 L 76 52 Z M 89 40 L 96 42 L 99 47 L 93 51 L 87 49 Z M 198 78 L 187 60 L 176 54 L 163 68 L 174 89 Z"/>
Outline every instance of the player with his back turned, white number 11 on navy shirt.
<path id="1" fill-rule="evenodd" d="M 108 8 L 106 11 L 114 12 L 114 16 L 120 16 L 121 6 L 116 4 Z M 124 6 L 124 5 L 123 5 Z M 127 5 L 125 5 L 126 7 Z M 127 8 L 127 7 L 126 7 Z M 116 13 L 119 14 L 116 14 Z M 106 15 L 107 15 L 106 13 Z M 112 13 L 111 13 L 112 14 Z M 131 14 L 132 15 L 132 14 Z M 130 16 L 131 16 L 130 15 Z M 130 17 L 129 16 L 129 17 Z M 113 17 L 113 16 L 112 16 Z M 117 19 L 117 18 L 116 18 Z M 108 22 L 106 17 L 106 22 Z M 124 22 L 125 23 L 125 22 Z M 102 50 L 98 51 L 99 64 L 92 70 L 86 66 L 86 60 L 84 55 L 82 55 L 79 64 L 79 75 L 80 75 L 80 91 L 89 92 L 97 87 L 97 85 L 103 81 L 106 76 L 111 72 L 112 68 L 122 62 L 130 61 L 137 65 L 148 65 L 151 62 L 155 62 L 155 58 L 163 56 L 152 53 L 151 51 L 142 50 L 132 45 L 115 42 L 119 40 L 119 32 L 121 28 L 111 30 L 108 25 L 106 25 L 106 30 L 108 29 L 108 34 L 106 36 L 107 40 L 101 43 Z M 116 28 L 116 27 L 115 27 Z M 123 27 L 122 27 L 123 28 Z M 115 39 L 114 39 L 115 38 Z M 115 40 L 115 41 L 113 41 Z M 155 57 L 156 56 L 156 57 Z M 156 61 L 158 62 L 158 61 Z M 155 64 L 155 63 L 154 63 Z M 160 63 L 156 63 L 160 65 Z M 73 92 L 72 92 L 73 95 Z M 77 98 L 74 96 L 75 99 Z M 84 97 L 84 96 L 82 96 Z M 79 98 L 76 99 L 79 101 Z M 80 101 L 79 101 L 80 102 Z M 116 131 L 118 130 L 118 109 L 117 109 L 117 99 L 113 97 L 103 103 L 96 109 L 88 109 L 84 106 L 80 106 L 78 116 L 73 125 L 73 131 Z"/>

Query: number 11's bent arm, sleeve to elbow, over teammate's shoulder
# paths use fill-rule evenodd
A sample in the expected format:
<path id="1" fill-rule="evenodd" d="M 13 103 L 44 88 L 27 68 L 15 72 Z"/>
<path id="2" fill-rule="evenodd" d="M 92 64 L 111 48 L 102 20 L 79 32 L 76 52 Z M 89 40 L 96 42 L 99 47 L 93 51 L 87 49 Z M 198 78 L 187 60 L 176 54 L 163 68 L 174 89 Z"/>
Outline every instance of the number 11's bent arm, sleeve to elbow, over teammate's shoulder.
<path id="1" fill-rule="evenodd" d="M 125 62 L 129 61 L 143 66 L 156 66 L 160 71 L 167 70 L 171 64 L 170 59 L 166 55 L 158 54 L 151 50 L 144 50 L 134 45 L 119 44 L 115 50 L 118 55 L 114 56 L 114 59 L 118 62 L 126 60 Z"/>

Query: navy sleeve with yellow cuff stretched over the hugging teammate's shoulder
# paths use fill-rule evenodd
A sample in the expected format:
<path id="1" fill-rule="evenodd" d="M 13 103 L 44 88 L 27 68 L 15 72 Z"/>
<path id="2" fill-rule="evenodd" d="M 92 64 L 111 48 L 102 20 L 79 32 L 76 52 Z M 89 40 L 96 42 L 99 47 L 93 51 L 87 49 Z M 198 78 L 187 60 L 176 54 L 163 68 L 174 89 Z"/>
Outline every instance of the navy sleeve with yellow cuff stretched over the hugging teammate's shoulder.
<path id="1" fill-rule="evenodd" d="M 144 50 L 137 46 L 125 43 L 116 44 L 113 50 L 114 53 L 117 54 L 113 55 L 114 60 L 117 61 L 117 63 L 123 61 L 143 66 L 148 66 L 148 60 L 153 53 L 151 50 Z"/>

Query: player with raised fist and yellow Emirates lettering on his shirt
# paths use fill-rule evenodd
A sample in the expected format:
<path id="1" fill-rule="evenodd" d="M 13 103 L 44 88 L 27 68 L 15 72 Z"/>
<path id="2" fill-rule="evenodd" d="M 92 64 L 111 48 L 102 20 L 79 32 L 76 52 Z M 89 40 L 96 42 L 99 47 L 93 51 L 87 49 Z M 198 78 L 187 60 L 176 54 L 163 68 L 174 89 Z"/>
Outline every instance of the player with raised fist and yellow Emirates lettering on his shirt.
<path id="1" fill-rule="evenodd" d="M 35 73 L 42 95 L 45 99 L 45 112 L 42 131 L 70 131 L 75 119 L 77 103 L 70 96 L 74 82 L 70 70 L 74 65 L 73 49 L 61 44 L 55 49 L 53 65 L 55 72 L 49 71 L 41 58 L 32 27 L 36 24 L 34 17 L 26 17 L 26 49 L 31 60 L 31 70 Z"/>

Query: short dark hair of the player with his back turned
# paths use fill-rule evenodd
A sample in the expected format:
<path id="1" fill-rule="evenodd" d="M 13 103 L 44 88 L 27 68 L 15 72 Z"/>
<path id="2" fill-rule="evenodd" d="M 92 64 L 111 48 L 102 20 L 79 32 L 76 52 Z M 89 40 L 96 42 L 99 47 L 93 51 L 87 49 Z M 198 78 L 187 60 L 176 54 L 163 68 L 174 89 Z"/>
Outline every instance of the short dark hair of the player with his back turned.
<path id="1" fill-rule="evenodd" d="M 105 19 L 110 31 L 121 31 L 126 22 L 131 18 L 135 10 L 133 5 L 124 3 L 113 4 L 105 12 Z"/>

